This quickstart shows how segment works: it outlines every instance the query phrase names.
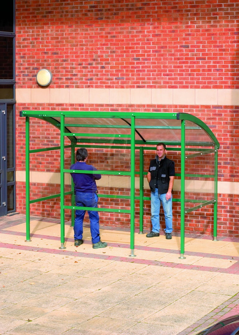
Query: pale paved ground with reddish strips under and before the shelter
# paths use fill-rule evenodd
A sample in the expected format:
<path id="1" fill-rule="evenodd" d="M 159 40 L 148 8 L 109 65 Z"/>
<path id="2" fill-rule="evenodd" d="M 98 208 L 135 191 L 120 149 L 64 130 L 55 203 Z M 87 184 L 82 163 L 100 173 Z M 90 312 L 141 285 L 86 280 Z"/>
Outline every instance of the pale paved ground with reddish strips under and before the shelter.
<path id="1" fill-rule="evenodd" d="M 189 335 L 239 313 L 239 239 L 185 235 L 166 240 L 101 227 L 92 249 L 89 227 L 74 247 L 73 227 L 25 216 L 0 218 L 0 334 Z"/>

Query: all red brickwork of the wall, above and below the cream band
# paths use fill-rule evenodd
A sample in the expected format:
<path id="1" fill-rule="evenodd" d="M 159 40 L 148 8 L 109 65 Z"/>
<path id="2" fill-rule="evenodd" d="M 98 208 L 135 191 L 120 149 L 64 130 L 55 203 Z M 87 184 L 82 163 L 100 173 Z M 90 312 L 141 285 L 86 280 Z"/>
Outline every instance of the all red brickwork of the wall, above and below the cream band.
<path id="1" fill-rule="evenodd" d="M 16 87 L 38 88 L 36 73 L 46 67 L 53 73 L 51 88 L 239 88 L 238 14 L 236 0 L 16 0 Z M 17 104 L 18 171 L 25 170 L 25 125 L 24 118 L 18 117 L 22 109 L 193 114 L 220 142 L 219 181 L 239 182 L 235 163 L 239 160 L 238 106 Z M 31 148 L 59 142 L 58 130 L 31 120 Z M 52 152 L 35 154 L 31 159 L 34 171 L 60 171 Z M 56 161 L 59 163 L 59 156 Z M 59 185 L 32 187 L 37 194 L 59 190 Z M 24 183 L 19 182 L 20 212 L 25 210 L 24 192 Z M 145 208 L 145 225 L 149 227 L 149 203 Z M 239 236 L 238 209 L 238 195 L 219 195 L 219 235 Z M 32 204 L 31 213 L 59 217 L 59 202 Z M 174 203 L 175 231 L 179 213 Z M 127 214 L 100 215 L 103 224 L 110 217 L 117 224 L 129 225 Z M 209 234 L 212 223 L 212 209 L 207 207 L 186 217 L 186 231 Z"/>

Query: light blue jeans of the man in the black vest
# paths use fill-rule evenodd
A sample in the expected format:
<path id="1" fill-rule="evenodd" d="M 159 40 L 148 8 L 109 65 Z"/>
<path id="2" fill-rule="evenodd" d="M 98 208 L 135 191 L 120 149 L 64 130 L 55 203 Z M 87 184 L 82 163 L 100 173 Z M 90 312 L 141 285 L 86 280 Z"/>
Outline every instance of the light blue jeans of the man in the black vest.
<path id="1" fill-rule="evenodd" d="M 159 232 L 160 222 L 159 222 L 159 209 L 160 204 L 163 205 L 164 216 L 165 216 L 165 232 L 172 232 L 173 230 L 173 214 L 172 214 L 172 197 L 166 200 L 166 194 L 158 194 L 158 189 L 155 192 L 151 192 L 151 222 L 152 231 Z"/>

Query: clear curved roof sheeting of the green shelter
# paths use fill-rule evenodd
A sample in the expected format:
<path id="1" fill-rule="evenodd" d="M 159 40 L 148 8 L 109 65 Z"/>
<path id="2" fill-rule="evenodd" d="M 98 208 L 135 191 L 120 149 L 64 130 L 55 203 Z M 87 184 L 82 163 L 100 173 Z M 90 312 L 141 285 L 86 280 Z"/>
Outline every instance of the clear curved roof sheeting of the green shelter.
<path id="1" fill-rule="evenodd" d="M 60 118 L 55 118 L 60 122 Z M 77 139 L 95 138 L 127 139 L 131 134 L 131 119 L 123 118 L 65 118 L 66 128 Z M 181 120 L 176 119 L 137 119 L 135 139 L 144 142 L 180 142 Z M 99 135 L 99 136 L 97 136 Z M 115 136 L 114 136 L 115 135 Z M 206 143 L 214 145 L 209 134 L 192 121 L 185 121 L 186 144 Z"/>

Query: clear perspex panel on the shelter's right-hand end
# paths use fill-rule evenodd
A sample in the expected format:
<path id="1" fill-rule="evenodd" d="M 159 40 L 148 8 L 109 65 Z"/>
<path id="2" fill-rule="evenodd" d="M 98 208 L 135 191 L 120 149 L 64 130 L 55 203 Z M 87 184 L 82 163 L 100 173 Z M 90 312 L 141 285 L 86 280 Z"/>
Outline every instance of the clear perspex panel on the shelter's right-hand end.
<path id="1" fill-rule="evenodd" d="M 185 148 L 185 207 L 191 208 L 215 198 L 215 149 Z"/>

